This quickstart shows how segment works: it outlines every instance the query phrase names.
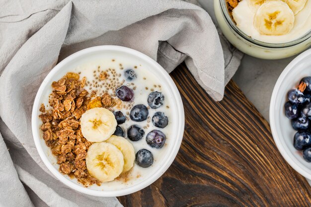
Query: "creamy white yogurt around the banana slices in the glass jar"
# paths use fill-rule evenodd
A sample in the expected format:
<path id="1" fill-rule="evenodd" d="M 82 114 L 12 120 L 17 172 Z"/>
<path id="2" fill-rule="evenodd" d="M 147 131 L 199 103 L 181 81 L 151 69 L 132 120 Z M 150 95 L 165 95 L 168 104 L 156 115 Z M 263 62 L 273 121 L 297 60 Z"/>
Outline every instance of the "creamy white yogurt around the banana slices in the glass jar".
<path id="1" fill-rule="evenodd" d="M 295 15 L 293 29 L 285 35 L 263 35 L 254 27 L 256 10 L 249 6 L 249 0 L 240 1 L 233 9 L 232 15 L 236 26 L 255 40 L 265 43 L 287 43 L 299 39 L 311 30 L 311 0 Z"/>

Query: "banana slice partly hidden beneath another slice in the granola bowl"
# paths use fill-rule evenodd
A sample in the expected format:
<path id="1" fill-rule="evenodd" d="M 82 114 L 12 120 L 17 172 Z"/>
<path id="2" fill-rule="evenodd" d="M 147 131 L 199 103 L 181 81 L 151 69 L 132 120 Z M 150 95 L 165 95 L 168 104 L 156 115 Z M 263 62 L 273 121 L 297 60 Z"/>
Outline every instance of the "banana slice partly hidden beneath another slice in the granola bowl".
<path id="1" fill-rule="evenodd" d="M 123 137 L 118 137 L 115 135 L 112 135 L 110 138 L 108 138 L 106 142 L 115 145 L 118 149 L 121 150 L 124 157 L 124 168 L 122 173 L 129 171 L 133 167 L 135 160 L 135 150 L 131 142 Z"/>

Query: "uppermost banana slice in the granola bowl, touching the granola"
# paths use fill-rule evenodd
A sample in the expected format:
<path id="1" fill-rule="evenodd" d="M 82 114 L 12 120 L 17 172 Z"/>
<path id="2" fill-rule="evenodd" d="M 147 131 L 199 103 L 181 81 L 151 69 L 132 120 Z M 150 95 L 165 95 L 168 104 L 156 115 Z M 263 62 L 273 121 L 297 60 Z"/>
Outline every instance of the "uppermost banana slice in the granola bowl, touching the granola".
<path id="1" fill-rule="evenodd" d="M 117 121 L 111 111 L 105 108 L 86 110 L 80 119 L 81 132 L 91 142 L 104 141 L 114 133 Z"/>

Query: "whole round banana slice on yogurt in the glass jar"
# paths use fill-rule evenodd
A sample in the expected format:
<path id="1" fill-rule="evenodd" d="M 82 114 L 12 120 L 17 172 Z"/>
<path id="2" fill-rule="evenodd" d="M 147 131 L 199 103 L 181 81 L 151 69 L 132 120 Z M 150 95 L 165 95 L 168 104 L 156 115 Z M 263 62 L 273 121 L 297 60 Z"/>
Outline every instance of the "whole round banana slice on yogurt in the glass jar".
<path id="1" fill-rule="evenodd" d="M 294 26 L 295 16 L 290 7 L 281 0 L 267 1 L 257 10 L 254 27 L 264 35 L 284 35 Z"/>

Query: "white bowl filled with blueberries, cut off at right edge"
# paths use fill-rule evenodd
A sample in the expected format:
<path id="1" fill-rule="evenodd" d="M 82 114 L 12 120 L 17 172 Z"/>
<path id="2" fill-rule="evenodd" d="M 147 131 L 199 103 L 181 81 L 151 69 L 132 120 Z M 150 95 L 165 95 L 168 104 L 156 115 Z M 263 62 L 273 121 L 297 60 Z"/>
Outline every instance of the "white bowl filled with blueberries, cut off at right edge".
<path id="1" fill-rule="evenodd" d="M 270 126 L 285 160 L 311 179 L 311 49 L 278 78 L 270 102 Z"/>

